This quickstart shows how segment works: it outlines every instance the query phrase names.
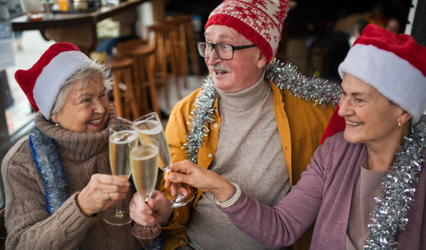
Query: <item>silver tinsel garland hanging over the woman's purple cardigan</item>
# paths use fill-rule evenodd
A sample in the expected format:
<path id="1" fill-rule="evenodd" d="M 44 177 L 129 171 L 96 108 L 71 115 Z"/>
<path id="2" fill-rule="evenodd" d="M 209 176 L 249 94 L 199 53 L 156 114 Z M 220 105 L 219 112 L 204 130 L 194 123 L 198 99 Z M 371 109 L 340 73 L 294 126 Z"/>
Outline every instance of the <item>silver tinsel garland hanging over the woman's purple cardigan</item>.
<path id="1" fill-rule="evenodd" d="M 415 186 L 421 165 L 425 162 L 422 149 L 426 147 L 426 116 L 410 126 L 410 136 L 383 178 L 383 195 L 375 198 L 376 207 L 371 213 L 370 233 L 364 249 L 398 249 L 398 234 L 408 223 L 407 213 L 414 203 Z"/>

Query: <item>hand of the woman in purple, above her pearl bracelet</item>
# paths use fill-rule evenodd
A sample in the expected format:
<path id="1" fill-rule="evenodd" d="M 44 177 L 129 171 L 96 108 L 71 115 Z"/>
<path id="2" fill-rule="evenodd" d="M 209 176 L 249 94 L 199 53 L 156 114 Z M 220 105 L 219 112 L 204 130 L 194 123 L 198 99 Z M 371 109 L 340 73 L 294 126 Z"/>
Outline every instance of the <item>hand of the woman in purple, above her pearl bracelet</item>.
<path id="1" fill-rule="evenodd" d="M 165 187 L 170 187 L 170 182 L 186 183 L 204 192 L 211 192 L 219 202 L 224 202 L 234 192 L 234 185 L 211 170 L 200 167 L 192 161 L 173 163 L 170 173 L 164 175 Z M 180 185 L 180 191 L 187 194 L 189 188 Z"/>

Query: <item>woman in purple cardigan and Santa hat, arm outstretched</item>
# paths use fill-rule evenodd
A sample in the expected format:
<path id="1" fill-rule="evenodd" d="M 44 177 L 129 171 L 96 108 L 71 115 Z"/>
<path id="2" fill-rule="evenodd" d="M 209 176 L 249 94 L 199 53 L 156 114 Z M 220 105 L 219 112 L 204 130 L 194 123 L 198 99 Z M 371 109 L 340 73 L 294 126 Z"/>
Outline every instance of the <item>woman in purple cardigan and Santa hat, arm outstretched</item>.
<path id="1" fill-rule="evenodd" d="M 166 175 L 167 185 L 211 192 L 236 227 L 271 249 L 313 222 L 311 249 L 425 249 L 426 48 L 369 24 L 339 74 L 346 127 L 317 148 L 275 207 L 190 161 L 172 165 L 180 173 Z"/>

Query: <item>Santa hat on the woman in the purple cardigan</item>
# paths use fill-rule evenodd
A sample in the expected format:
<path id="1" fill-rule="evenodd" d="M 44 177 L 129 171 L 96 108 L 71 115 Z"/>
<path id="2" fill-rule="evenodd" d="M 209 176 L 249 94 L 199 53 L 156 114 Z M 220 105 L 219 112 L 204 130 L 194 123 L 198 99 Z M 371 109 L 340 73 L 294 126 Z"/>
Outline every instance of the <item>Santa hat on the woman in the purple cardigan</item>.
<path id="1" fill-rule="evenodd" d="M 413 116 L 412 124 L 425 112 L 426 48 L 412 36 L 368 24 L 339 65 L 342 79 L 345 73 L 398 104 Z"/>

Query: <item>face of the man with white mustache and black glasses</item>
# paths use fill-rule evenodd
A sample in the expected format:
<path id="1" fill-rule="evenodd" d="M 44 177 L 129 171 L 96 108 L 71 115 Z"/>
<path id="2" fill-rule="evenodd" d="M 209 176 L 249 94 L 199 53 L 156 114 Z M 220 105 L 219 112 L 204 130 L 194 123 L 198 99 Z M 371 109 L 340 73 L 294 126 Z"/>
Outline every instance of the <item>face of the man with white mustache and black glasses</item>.
<path id="1" fill-rule="evenodd" d="M 243 35 L 227 26 L 209 26 L 204 36 L 208 43 L 228 43 L 234 46 L 250 44 Z M 204 60 L 213 77 L 214 86 L 223 92 L 239 92 L 251 87 L 261 78 L 266 65 L 266 58 L 257 47 L 235 50 L 231 60 L 220 59 L 214 50 Z"/>

